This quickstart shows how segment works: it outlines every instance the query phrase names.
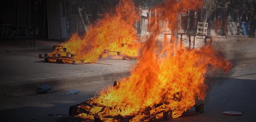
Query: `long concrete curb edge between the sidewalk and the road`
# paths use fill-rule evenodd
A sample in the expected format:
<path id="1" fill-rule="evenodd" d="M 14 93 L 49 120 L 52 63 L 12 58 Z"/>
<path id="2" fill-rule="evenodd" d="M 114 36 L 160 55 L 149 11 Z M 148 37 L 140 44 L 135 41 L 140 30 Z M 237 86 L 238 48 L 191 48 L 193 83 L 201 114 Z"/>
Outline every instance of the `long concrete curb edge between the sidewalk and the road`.
<path id="1" fill-rule="evenodd" d="M 22 82 L 22 83 L 2 83 L 0 84 L 0 96 L 4 96 L 10 93 L 19 93 L 23 91 L 32 91 L 36 90 L 40 85 L 50 85 L 54 88 L 64 88 L 68 86 L 75 85 L 86 85 L 91 82 L 103 82 L 103 81 L 117 81 L 121 78 L 130 76 L 129 71 L 124 72 L 110 72 L 104 74 L 94 74 L 91 76 L 84 77 L 70 77 L 70 78 L 62 78 L 56 80 L 45 80 L 45 81 L 37 81 L 37 82 Z"/>

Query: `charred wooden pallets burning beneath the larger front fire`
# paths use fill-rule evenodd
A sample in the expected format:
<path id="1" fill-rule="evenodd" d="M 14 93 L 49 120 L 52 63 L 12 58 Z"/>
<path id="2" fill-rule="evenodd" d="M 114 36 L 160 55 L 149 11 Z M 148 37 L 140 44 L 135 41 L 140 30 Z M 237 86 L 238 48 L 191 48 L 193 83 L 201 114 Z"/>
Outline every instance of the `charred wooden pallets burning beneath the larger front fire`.
<path id="1" fill-rule="evenodd" d="M 114 83 L 114 86 L 116 85 L 117 85 L 117 82 Z M 103 121 L 100 119 L 100 117 L 98 117 L 97 113 L 92 113 L 89 110 L 84 109 L 86 107 L 81 107 L 81 106 L 86 106 L 89 108 L 100 107 L 101 108 L 100 112 L 104 111 L 104 109 L 113 109 L 113 107 L 101 105 L 99 103 L 90 103 L 90 101 L 81 102 L 80 104 L 72 105 L 69 107 L 70 116 L 74 117 L 82 113 L 92 115 L 94 117 L 94 120 L 85 120 L 90 122 L 103 122 Z M 195 108 L 194 111 L 186 111 L 185 113 L 182 114 L 181 117 L 203 113 L 203 106 L 204 106 L 203 103 L 195 103 L 195 105 L 191 107 L 191 110 L 193 110 L 192 109 L 193 107 Z M 119 120 L 119 122 L 129 122 L 131 120 L 133 121 L 136 120 L 138 122 L 148 122 L 148 121 L 155 120 L 158 114 L 163 113 L 162 120 L 172 119 L 172 111 L 165 111 L 163 109 L 164 107 L 165 107 L 164 103 L 159 103 L 159 104 L 155 104 L 153 106 L 148 106 L 144 108 L 142 110 L 143 112 L 137 115 L 128 115 L 125 117 L 121 115 L 117 115 L 117 116 L 106 115 L 106 116 L 103 116 L 102 118 Z M 161 119 L 161 118 L 158 118 L 158 119 Z"/>

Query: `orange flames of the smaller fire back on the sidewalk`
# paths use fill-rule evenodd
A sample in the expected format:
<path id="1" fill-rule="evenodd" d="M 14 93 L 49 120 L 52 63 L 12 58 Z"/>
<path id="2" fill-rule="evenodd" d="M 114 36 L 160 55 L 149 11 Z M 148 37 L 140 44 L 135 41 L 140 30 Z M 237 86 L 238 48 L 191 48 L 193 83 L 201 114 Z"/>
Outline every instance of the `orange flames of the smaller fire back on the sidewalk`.
<path id="1" fill-rule="evenodd" d="M 121 55 L 136 57 L 140 43 L 133 27 L 139 16 L 131 0 L 120 0 L 116 13 L 106 13 L 104 19 L 91 25 L 83 37 L 73 34 L 63 43 L 67 51 L 75 54 L 75 59 L 95 62 L 105 50 L 121 52 Z"/>

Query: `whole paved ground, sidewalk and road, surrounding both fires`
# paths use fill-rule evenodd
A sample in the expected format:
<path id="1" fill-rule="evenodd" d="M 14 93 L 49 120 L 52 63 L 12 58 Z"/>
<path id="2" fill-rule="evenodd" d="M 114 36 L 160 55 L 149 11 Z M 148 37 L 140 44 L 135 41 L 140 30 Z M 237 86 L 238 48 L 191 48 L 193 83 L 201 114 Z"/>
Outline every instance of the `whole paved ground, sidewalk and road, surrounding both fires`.
<path id="1" fill-rule="evenodd" d="M 241 43 L 241 40 L 247 44 Z M 256 122 L 256 53 L 253 51 L 255 40 L 241 38 L 237 41 L 233 38 L 233 41 L 236 41 L 235 48 L 229 46 L 229 50 L 224 50 L 228 52 L 225 56 L 232 61 L 233 69 L 226 75 L 207 74 L 211 77 L 206 80 L 209 89 L 205 98 L 205 112 L 172 121 Z M 47 42 L 46 47 L 51 49 L 52 45 L 53 43 Z M 38 48 L 24 52 L 11 48 L 15 50 L 7 53 L 4 51 L 6 49 L 0 52 L 1 57 L 4 57 L 0 60 L 0 90 L 3 90 L 2 93 L 7 92 L 7 96 L 0 97 L 1 122 L 73 121 L 67 117 L 70 105 L 85 101 L 105 86 L 113 85 L 114 80 L 128 76 L 129 66 L 134 63 L 125 60 L 101 60 L 98 64 L 52 64 L 38 58 L 39 53 L 51 50 Z M 56 86 L 52 90 L 53 93 L 37 94 L 34 90 L 38 85 L 45 83 Z M 71 89 L 79 89 L 80 93 L 66 95 L 66 91 Z M 8 94 L 26 90 L 32 91 Z M 239 117 L 221 115 L 223 111 L 228 110 L 244 111 L 245 114 Z"/>

